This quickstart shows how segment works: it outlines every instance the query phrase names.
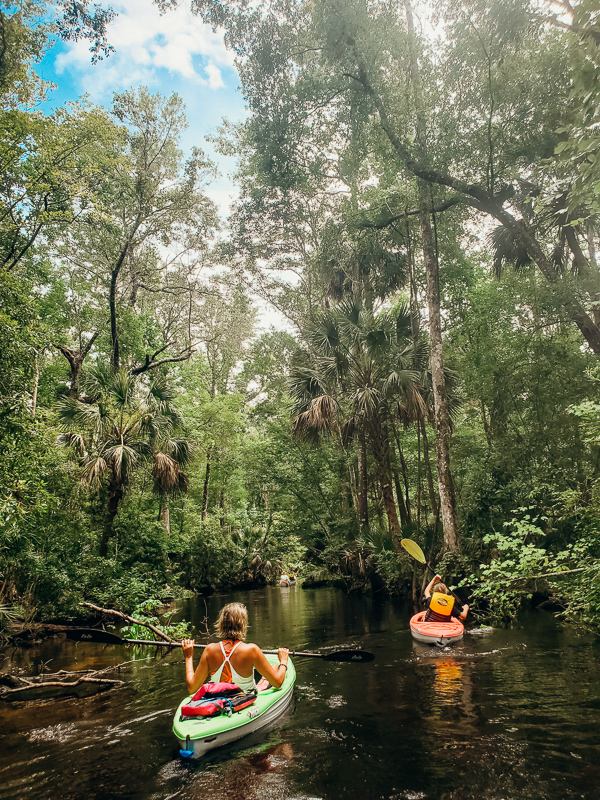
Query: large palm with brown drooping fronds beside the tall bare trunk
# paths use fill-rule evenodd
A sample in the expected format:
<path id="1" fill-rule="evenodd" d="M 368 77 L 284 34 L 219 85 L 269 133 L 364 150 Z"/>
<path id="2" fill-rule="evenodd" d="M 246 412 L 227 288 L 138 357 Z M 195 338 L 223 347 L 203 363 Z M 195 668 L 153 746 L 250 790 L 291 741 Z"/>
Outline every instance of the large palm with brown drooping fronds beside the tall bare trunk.
<path id="1" fill-rule="evenodd" d="M 338 431 L 343 442 L 358 441 L 358 518 L 368 524 L 367 449 L 377 478 L 394 544 L 400 524 L 390 468 L 389 421 L 402 399 L 420 403 L 419 369 L 425 350 L 411 340 L 406 306 L 374 314 L 360 300 L 346 300 L 320 312 L 304 332 L 306 349 L 293 362 L 290 393 L 296 400 L 293 432 L 309 440 Z"/>

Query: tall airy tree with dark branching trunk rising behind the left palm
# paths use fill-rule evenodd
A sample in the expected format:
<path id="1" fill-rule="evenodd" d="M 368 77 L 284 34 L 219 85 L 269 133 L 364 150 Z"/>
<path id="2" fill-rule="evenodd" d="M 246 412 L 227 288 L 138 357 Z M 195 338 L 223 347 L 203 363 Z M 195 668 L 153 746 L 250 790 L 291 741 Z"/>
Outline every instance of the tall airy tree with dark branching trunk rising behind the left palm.
<path id="1" fill-rule="evenodd" d="M 114 115 L 122 124 L 102 181 L 56 247 L 70 316 L 79 320 L 79 341 L 66 333 L 56 344 L 71 366 L 73 396 L 98 337 L 113 368 L 126 364 L 135 375 L 190 357 L 201 296 L 194 275 L 216 226 L 203 191 L 211 167 L 197 149 L 183 163 L 179 150 L 181 99 L 126 92 L 115 96 Z"/>

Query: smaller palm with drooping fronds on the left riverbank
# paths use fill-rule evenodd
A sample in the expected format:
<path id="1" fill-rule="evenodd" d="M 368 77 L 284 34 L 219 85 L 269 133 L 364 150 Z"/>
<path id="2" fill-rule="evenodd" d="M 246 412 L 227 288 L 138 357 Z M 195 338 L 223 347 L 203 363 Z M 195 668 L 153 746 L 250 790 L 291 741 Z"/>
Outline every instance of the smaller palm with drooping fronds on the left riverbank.
<path id="1" fill-rule="evenodd" d="M 187 488 L 181 466 L 190 448 L 186 440 L 174 437 L 182 420 L 163 376 L 145 382 L 124 370 L 99 367 L 87 378 L 85 391 L 87 402 L 65 397 L 56 411 L 61 441 L 75 449 L 83 483 L 104 498 L 99 552 L 106 556 L 115 517 L 136 468 L 153 463 L 155 490 L 161 507 L 167 504 L 168 509 L 168 497 Z"/>

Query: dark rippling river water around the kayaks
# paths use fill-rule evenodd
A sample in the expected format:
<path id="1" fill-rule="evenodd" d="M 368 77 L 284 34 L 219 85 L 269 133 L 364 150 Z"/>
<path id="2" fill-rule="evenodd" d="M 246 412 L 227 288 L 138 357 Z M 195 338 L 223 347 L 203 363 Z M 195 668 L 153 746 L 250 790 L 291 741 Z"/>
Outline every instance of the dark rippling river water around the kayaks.
<path id="1" fill-rule="evenodd" d="M 101 668 L 87 699 L 0 702 L 0 798 L 67 800 L 570 800 L 600 797 L 600 643 L 531 612 L 440 650 L 410 609 L 300 587 L 186 601 L 197 630 L 231 600 L 270 649 L 362 647 L 367 664 L 297 658 L 295 701 L 268 733 L 184 761 L 171 733 L 181 651 L 58 639 L 0 650 L 0 670 Z"/>

